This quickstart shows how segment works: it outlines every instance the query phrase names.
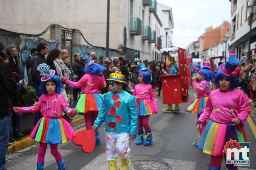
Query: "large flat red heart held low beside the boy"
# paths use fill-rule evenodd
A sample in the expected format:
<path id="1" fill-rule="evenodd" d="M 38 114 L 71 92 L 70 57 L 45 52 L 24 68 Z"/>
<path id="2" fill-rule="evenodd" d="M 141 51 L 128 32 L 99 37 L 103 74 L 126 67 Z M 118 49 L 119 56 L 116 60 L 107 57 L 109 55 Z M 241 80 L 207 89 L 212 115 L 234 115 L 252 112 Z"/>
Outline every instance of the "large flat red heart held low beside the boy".
<path id="1" fill-rule="evenodd" d="M 96 143 L 96 136 L 93 130 L 81 130 L 76 133 L 76 136 L 73 138 L 73 143 L 82 146 L 82 150 L 85 153 L 93 152 Z"/>

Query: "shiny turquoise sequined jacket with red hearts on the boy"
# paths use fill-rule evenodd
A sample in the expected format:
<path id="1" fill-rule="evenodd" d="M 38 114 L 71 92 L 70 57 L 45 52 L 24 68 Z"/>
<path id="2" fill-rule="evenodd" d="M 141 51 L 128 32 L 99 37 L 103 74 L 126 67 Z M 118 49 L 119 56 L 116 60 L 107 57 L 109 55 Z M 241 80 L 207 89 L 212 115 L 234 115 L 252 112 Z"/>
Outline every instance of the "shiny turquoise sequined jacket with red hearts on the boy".
<path id="1" fill-rule="evenodd" d="M 138 108 L 135 97 L 126 91 L 104 94 L 102 108 L 94 126 L 100 127 L 103 122 L 106 123 L 107 132 L 137 135 Z"/>

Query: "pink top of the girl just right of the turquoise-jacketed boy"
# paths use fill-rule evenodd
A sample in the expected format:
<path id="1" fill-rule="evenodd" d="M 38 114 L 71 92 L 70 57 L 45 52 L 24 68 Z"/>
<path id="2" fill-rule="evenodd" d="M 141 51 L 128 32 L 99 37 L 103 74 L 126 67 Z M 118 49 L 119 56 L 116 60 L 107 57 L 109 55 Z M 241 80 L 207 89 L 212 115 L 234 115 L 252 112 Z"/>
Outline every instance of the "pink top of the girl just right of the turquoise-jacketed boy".
<path id="1" fill-rule="evenodd" d="M 153 102 L 156 100 L 153 88 L 150 84 L 137 84 L 134 87 L 133 95 L 138 97 L 139 100 L 151 99 Z"/>

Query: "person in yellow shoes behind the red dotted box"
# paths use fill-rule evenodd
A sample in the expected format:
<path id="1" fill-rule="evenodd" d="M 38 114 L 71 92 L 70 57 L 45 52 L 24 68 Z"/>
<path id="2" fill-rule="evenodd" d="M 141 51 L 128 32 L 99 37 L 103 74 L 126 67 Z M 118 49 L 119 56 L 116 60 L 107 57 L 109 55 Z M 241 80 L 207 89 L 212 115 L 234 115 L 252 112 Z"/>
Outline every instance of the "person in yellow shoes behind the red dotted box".
<path id="1" fill-rule="evenodd" d="M 179 74 L 179 69 L 177 68 L 177 65 L 175 65 L 174 57 L 170 57 L 170 61 L 167 61 L 166 64 L 170 65 L 170 71 L 169 74 Z M 164 75 L 168 75 L 168 72 L 165 70 L 162 70 Z M 163 108 L 164 112 L 172 113 L 172 112 L 180 112 L 180 104 L 175 104 L 175 109 L 172 109 L 172 104 L 168 104 L 167 108 Z"/>

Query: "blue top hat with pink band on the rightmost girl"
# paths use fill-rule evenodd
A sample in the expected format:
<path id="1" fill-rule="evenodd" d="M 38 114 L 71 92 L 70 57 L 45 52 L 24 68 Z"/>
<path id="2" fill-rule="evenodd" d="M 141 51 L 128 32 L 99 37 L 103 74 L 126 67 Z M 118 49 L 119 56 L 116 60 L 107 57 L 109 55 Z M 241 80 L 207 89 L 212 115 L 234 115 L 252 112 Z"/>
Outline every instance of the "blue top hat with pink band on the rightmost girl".
<path id="1" fill-rule="evenodd" d="M 227 62 L 220 65 L 220 71 L 227 77 L 236 76 L 236 67 L 239 64 L 239 59 L 236 57 L 229 57 Z"/>

